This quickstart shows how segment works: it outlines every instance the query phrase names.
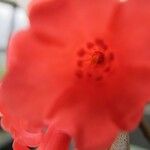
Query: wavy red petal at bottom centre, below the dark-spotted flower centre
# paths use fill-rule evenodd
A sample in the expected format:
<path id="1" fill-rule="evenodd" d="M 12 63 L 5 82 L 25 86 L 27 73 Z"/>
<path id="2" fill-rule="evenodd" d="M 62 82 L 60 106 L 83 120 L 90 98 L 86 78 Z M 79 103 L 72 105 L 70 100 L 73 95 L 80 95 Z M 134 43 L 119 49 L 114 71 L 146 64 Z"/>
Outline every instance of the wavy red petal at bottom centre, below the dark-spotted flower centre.
<path id="1" fill-rule="evenodd" d="M 111 118 L 108 99 L 97 93 L 97 90 L 103 92 L 102 87 L 81 84 L 82 87 L 73 87 L 60 96 L 47 119 L 72 135 L 78 149 L 106 149 L 120 130 Z"/>

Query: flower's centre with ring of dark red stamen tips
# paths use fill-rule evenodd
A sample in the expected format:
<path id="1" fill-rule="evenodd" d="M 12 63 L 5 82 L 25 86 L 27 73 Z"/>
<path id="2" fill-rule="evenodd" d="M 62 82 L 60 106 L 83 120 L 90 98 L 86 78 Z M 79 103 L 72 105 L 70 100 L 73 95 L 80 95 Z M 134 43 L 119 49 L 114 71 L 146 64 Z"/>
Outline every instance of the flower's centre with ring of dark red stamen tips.
<path id="1" fill-rule="evenodd" d="M 77 51 L 77 56 L 78 78 L 88 77 L 100 81 L 112 70 L 114 54 L 102 39 L 88 42 Z"/>

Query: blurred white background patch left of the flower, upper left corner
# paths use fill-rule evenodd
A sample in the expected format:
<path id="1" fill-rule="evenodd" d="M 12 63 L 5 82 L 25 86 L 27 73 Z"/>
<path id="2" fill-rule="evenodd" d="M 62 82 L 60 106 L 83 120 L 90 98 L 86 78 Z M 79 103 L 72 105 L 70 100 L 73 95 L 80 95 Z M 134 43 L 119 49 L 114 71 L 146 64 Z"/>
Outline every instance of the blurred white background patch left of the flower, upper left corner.
<path id="1" fill-rule="evenodd" d="M 0 73 L 6 64 L 6 49 L 12 32 L 28 25 L 26 12 L 22 7 L 15 6 L 12 1 L 0 2 Z M 10 3 L 9 3 L 10 2 Z M 11 5 L 12 4 L 12 5 Z M 23 1 L 20 1 L 25 6 Z"/>

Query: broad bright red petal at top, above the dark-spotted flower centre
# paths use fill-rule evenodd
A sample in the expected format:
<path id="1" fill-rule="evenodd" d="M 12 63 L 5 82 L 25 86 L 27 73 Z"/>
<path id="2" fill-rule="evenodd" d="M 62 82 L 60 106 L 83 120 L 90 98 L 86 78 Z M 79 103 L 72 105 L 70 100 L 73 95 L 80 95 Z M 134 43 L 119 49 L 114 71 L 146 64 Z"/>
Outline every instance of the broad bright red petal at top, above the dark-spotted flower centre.
<path id="1" fill-rule="evenodd" d="M 93 36 L 102 36 L 117 4 L 117 0 L 34 1 L 29 13 L 31 29 L 49 40 L 62 37 L 67 45 L 75 42 L 76 37 L 91 40 Z"/>

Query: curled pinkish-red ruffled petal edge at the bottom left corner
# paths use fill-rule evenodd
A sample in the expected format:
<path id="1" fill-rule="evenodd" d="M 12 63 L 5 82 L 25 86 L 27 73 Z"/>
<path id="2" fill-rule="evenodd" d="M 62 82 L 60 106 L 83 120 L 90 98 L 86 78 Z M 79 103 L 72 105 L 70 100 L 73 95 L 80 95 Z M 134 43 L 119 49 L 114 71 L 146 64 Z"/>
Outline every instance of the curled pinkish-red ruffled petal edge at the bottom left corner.
<path id="1" fill-rule="evenodd" d="M 13 116 L 7 116 L 4 114 L 4 117 L 1 118 L 2 128 L 11 133 L 11 136 L 18 144 L 38 147 L 41 139 L 41 132 L 29 132 L 29 128 L 26 127 L 24 122 L 20 119 L 14 119 Z"/>

